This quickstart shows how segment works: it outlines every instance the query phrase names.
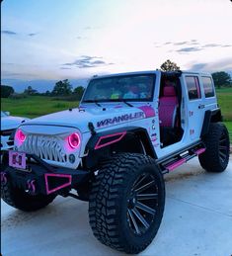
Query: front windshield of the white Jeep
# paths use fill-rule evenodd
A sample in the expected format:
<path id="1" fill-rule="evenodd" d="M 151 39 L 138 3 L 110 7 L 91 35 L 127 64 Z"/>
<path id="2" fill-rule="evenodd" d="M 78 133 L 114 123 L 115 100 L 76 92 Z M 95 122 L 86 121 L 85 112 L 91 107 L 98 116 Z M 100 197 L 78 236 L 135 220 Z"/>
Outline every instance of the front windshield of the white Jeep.
<path id="1" fill-rule="evenodd" d="M 94 78 L 90 81 L 82 102 L 152 101 L 154 84 L 154 74 Z"/>

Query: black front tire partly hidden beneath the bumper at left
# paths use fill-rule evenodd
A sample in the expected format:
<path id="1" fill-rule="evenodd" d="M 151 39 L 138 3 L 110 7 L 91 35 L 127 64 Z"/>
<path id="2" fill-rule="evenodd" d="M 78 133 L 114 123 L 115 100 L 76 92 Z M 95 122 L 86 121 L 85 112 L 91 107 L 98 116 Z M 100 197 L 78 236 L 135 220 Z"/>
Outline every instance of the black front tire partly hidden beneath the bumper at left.
<path id="1" fill-rule="evenodd" d="M 33 212 L 44 208 L 50 204 L 55 197 L 55 195 L 30 195 L 23 189 L 14 187 L 10 181 L 6 184 L 1 184 L 1 198 L 3 201 L 25 212 Z"/>

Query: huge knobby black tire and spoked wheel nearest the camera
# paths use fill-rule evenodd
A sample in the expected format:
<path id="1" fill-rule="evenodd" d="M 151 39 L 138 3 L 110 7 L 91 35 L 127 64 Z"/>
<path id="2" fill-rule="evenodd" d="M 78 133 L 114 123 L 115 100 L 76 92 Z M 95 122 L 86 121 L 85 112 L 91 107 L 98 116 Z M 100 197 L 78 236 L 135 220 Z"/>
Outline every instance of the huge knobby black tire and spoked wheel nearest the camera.
<path id="1" fill-rule="evenodd" d="M 139 253 L 155 237 L 164 205 L 163 175 L 152 158 L 117 154 L 103 164 L 93 184 L 90 225 L 102 243 L 126 253 Z"/>

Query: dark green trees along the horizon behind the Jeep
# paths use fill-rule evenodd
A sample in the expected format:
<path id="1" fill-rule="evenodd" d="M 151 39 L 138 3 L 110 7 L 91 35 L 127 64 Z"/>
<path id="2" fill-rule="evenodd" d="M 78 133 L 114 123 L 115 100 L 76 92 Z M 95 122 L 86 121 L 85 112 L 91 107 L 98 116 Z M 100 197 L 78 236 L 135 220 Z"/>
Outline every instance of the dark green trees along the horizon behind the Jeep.
<path id="1" fill-rule="evenodd" d="M 167 59 L 161 66 L 162 71 L 177 71 L 180 67 L 170 59 Z M 221 87 L 232 87 L 232 79 L 229 73 L 220 71 L 212 73 L 212 78 L 216 88 Z M 45 93 L 39 93 L 37 90 L 33 89 L 32 86 L 28 86 L 25 89 L 23 95 L 43 95 L 43 96 L 53 96 L 53 97 L 72 97 L 73 99 L 80 101 L 85 88 L 83 86 L 77 86 L 73 89 L 68 79 L 60 80 L 55 83 L 53 90 L 46 91 Z M 14 88 L 8 85 L 1 85 L 1 98 L 8 98 L 14 95 Z"/>

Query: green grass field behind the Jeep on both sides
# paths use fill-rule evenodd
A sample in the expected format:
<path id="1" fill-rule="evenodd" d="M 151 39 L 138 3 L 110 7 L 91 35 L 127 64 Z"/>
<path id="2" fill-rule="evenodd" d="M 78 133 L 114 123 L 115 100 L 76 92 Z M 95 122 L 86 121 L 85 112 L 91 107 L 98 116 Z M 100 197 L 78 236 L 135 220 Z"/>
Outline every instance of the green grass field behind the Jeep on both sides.
<path id="1" fill-rule="evenodd" d="M 229 130 L 232 141 L 232 88 L 216 90 L 224 123 Z M 69 108 L 78 107 L 79 102 L 55 100 L 52 97 L 31 96 L 23 99 L 1 99 L 1 110 L 9 111 L 13 116 L 36 118 Z"/>

